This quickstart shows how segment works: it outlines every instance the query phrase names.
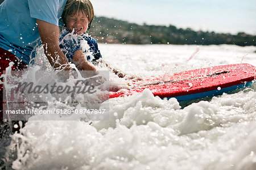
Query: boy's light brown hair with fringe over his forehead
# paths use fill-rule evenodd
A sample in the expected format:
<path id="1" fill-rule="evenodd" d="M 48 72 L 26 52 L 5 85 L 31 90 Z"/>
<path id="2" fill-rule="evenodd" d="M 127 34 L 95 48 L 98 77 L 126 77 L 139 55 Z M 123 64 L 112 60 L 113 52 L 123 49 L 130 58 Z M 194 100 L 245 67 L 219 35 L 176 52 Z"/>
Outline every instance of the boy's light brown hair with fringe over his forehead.
<path id="1" fill-rule="evenodd" d="M 85 15 L 87 15 L 87 18 L 89 20 L 87 29 L 89 30 L 90 24 L 92 23 L 94 18 L 93 6 L 89 0 L 68 0 L 65 5 L 63 14 L 61 16 L 64 24 L 67 25 L 67 22 L 66 22 L 67 15 L 78 15 L 79 11 L 83 11 Z"/>

